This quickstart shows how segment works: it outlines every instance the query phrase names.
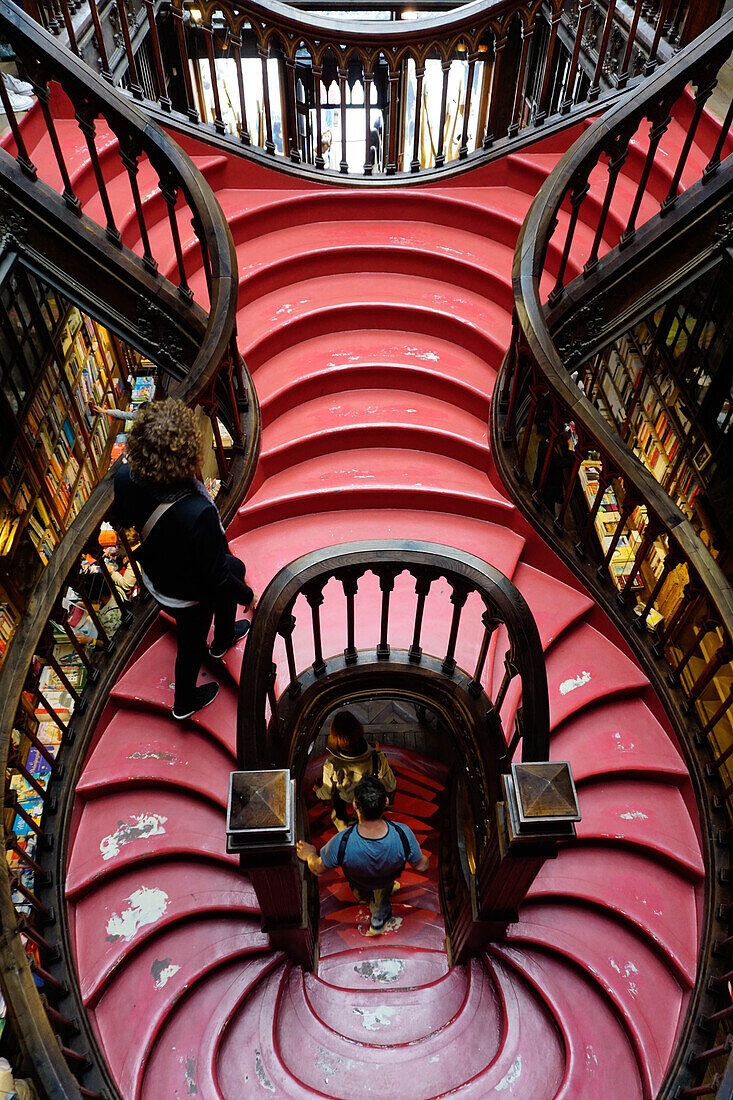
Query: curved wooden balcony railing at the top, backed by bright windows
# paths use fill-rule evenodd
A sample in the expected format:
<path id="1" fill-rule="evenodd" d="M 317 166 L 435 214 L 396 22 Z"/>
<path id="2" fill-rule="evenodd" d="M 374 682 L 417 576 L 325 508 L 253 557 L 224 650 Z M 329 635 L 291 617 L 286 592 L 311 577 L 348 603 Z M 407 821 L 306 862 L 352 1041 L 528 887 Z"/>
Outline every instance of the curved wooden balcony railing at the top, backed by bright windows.
<path id="1" fill-rule="evenodd" d="M 26 2 L 171 124 L 185 116 L 265 157 L 352 178 L 499 156 L 521 132 L 582 117 L 648 76 L 721 10 L 721 0 L 473 0 L 364 21 L 277 0 L 172 0 L 161 23 L 155 0 Z"/>

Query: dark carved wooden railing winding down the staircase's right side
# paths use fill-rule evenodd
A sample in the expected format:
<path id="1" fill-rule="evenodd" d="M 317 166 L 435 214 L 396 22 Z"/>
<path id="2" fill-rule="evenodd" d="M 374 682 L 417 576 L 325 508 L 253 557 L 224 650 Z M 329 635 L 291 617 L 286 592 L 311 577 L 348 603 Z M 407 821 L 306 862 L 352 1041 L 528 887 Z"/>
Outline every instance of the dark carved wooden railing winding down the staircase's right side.
<path id="1" fill-rule="evenodd" d="M 731 1042 L 733 592 L 689 520 L 587 399 L 576 372 L 730 241 L 733 107 L 718 136 L 708 136 L 702 162 L 691 150 L 732 48 L 729 15 L 612 108 L 548 177 L 516 246 L 512 344 L 492 410 L 507 487 L 630 639 L 677 730 L 698 801 L 707 869 L 699 971 L 660 1098 L 714 1094 L 723 1079 L 715 1059 Z M 665 133 L 689 85 L 693 114 L 670 156 Z M 620 169 L 632 156 L 637 184 L 622 189 Z M 590 484 L 587 460 L 598 476 Z M 615 512 L 608 509 L 611 492 Z M 672 585 L 678 597 L 659 626 Z M 705 706 L 714 685 L 718 703 Z"/>

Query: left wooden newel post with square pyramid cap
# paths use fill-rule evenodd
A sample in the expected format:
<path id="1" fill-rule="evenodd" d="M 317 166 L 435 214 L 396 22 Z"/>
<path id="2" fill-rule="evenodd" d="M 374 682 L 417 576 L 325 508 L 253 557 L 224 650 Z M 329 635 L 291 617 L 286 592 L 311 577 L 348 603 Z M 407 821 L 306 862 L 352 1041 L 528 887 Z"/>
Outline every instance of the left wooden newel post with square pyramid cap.
<path id="1" fill-rule="evenodd" d="M 231 773 L 227 851 L 237 853 L 248 872 L 273 948 L 313 970 L 318 886 L 295 855 L 296 833 L 295 780 L 287 769 Z"/>

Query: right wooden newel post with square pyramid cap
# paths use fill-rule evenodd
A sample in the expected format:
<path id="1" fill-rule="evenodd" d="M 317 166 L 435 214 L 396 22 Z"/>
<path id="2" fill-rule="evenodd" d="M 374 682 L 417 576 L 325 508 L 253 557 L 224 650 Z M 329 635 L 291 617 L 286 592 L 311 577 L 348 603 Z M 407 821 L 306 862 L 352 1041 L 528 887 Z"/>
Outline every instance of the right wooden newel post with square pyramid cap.
<path id="1" fill-rule="evenodd" d="M 473 920 L 461 930 L 461 943 L 453 937 L 455 961 L 503 938 L 543 864 L 555 859 L 560 844 L 575 839 L 579 821 L 567 761 L 513 763 L 502 776 L 502 801 L 477 868 Z"/>

